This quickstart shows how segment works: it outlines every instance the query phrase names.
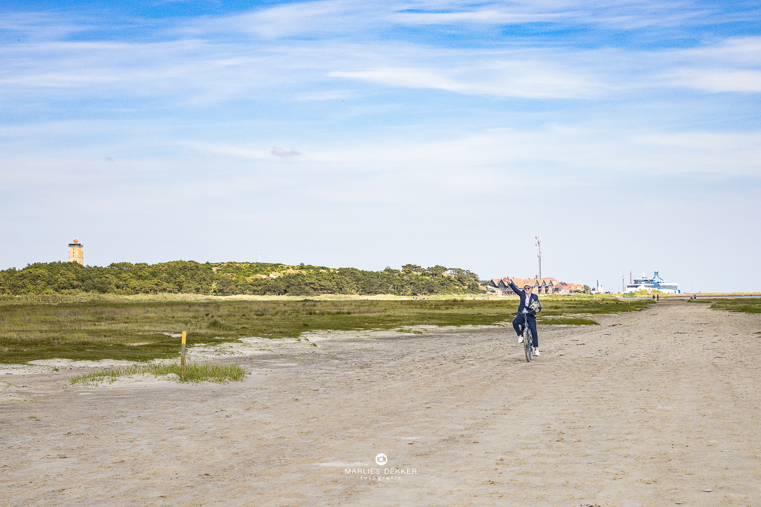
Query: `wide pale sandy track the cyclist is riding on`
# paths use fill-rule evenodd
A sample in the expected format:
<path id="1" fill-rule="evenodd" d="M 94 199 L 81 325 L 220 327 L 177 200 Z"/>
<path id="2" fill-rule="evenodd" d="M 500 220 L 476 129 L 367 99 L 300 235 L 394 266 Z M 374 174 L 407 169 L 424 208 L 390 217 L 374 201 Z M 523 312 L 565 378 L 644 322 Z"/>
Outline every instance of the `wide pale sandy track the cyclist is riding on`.
<path id="1" fill-rule="evenodd" d="M 243 384 L 3 375 L 33 401 L 0 404 L 0 505 L 761 505 L 761 315 L 707 306 L 540 328 L 530 364 L 446 328 L 248 357 Z"/>

